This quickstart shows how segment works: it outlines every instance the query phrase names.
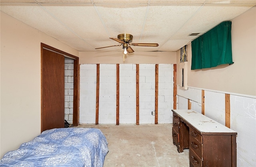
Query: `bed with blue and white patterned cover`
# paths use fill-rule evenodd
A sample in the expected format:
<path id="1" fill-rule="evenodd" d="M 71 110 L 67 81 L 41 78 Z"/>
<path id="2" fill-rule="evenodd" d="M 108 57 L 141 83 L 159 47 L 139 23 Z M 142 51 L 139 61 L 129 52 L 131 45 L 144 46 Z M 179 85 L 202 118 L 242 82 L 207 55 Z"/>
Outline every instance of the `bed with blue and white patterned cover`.
<path id="1" fill-rule="evenodd" d="M 1 167 L 102 167 L 108 142 L 97 128 L 55 128 L 7 152 Z"/>

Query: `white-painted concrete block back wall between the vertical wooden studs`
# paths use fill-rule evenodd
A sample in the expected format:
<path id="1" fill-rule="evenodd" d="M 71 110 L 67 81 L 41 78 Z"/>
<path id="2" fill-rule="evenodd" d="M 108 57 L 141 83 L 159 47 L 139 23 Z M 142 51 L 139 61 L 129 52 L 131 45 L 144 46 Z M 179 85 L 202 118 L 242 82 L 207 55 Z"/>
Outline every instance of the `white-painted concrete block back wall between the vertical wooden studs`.
<path id="1" fill-rule="evenodd" d="M 95 124 L 96 65 L 80 65 L 80 124 Z M 140 124 L 154 124 L 155 65 L 139 65 Z M 158 123 L 171 123 L 173 65 L 159 65 Z M 119 123 L 136 124 L 136 64 L 119 65 Z M 100 64 L 99 124 L 116 124 L 116 64 Z"/>

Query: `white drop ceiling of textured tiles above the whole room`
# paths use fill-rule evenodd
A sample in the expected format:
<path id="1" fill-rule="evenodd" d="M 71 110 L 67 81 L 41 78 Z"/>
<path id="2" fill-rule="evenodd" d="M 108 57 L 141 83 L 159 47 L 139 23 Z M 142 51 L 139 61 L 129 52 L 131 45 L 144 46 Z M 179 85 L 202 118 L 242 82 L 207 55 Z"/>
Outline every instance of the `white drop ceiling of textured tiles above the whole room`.
<path id="1" fill-rule="evenodd" d="M 130 33 L 134 51 L 177 51 L 256 0 L 0 0 L 1 12 L 78 51 L 122 51 L 109 39 Z"/>

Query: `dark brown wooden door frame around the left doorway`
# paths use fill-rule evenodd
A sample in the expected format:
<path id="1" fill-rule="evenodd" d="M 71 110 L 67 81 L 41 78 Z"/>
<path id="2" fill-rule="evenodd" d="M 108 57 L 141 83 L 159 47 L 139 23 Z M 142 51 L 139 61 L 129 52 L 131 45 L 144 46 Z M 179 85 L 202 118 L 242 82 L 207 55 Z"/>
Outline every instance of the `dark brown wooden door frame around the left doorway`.
<path id="1" fill-rule="evenodd" d="M 42 114 L 43 114 L 43 76 L 42 76 L 42 57 L 43 57 L 43 49 L 50 49 L 54 52 L 64 55 L 65 57 L 74 59 L 74 95 L 73 95 L 73 125 L 78 126 L 79 123 L 79 57 L 41 43 L 41 132 L 42 132 Z M 64 121 L 64 120 L 63 120 Z"/>

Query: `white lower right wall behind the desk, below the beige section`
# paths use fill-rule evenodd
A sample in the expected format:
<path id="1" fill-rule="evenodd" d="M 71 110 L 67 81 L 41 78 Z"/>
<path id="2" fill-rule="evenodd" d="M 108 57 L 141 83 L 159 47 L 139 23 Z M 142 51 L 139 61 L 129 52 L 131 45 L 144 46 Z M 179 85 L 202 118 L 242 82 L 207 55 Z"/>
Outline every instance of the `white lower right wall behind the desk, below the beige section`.
<path id="1" fill-rule="evenodd" d="M 191 108 L 201 113 L 202 100 L 200 88 L 177 90 L 177 109 Z M 252 167 L 256 164 L 256 97 L 204 90 L 204 112 L 209 118 L 225 125 L 225 94 L 230 94 L 230 129 L 237 132 L 237 166 Z M 198 98 L 200 97 L 200 98 Z"/>

